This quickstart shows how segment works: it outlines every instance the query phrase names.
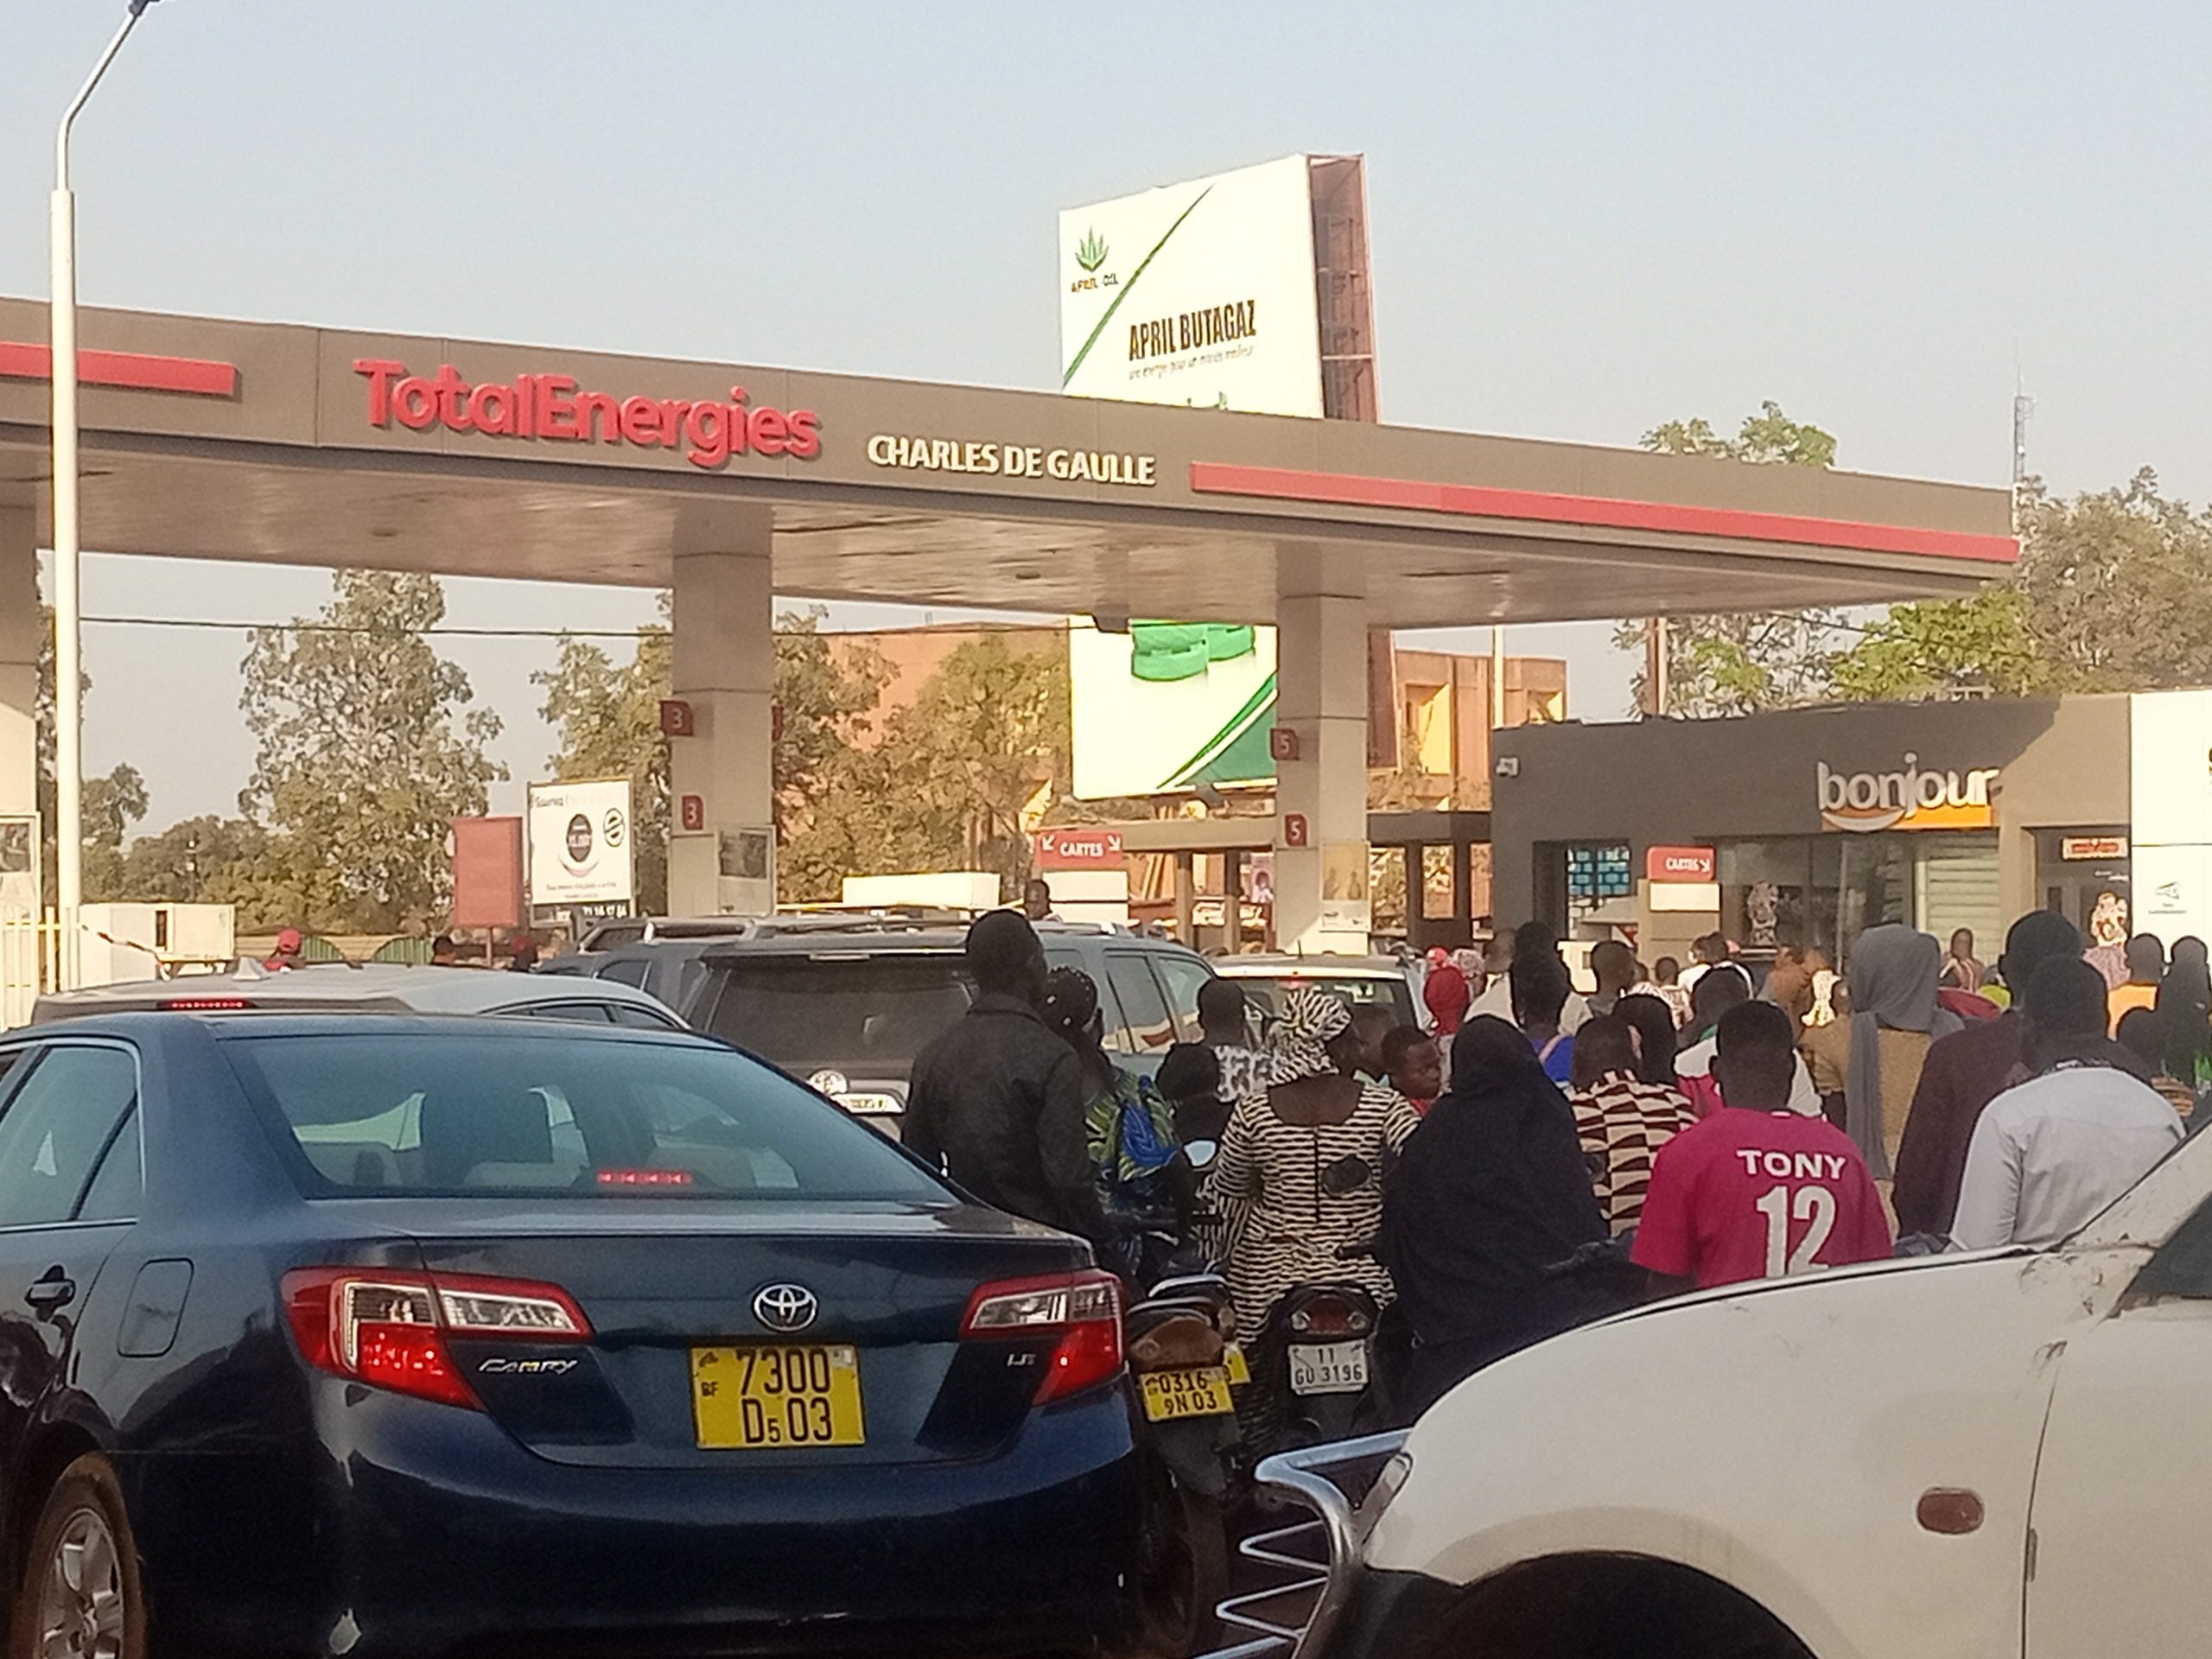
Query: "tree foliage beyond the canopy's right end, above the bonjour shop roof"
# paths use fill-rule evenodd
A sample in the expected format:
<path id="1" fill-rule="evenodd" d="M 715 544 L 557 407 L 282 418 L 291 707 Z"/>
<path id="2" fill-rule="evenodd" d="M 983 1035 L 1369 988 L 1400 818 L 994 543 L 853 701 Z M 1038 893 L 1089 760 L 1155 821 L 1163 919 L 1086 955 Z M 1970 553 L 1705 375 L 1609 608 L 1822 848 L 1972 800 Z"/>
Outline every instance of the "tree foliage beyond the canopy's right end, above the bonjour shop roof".
<path id="1" fill-rule="evenodd" d="M 2020 564 L 1966 599 L 1891 606 L 1836 661 L 1840 697 L 2157 690 L 2212 679 L 2212 513 L 2126 484 L 2020 498 Z"/>

